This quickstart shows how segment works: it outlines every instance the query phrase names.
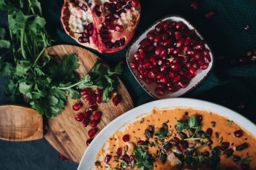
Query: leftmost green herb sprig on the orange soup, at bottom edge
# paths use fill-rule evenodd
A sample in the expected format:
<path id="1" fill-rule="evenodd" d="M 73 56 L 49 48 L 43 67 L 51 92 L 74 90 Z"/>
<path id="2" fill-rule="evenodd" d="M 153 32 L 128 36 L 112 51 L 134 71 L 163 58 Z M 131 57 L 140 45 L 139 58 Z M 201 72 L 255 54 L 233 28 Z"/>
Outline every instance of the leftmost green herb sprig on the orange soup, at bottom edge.
<path id="1" fill-rule="evenodd" d="M 135 160 L 137 161 L 136 166 L 141 170 L 144 170 L 145 167 L 148 169 L 153 169 L 153 162 L 155 159 L 148 154 L 147 152 L 143 151 L 141 147 L 135 148 Z"/>

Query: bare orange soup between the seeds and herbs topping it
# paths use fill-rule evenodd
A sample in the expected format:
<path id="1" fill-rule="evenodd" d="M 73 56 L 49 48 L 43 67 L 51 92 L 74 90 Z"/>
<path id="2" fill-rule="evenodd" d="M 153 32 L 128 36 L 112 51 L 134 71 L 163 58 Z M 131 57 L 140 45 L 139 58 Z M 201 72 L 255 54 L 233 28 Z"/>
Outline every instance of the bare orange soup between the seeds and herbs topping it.
<path id="1" fill-rule="evenodd" d="M 186 117 L 190 117 L 193 115 L 201 115 L 203 120 L 201 122 L 201 129 L 204 132 L 207 131 L 208 128 L 211 128 L 213 130 L 212 136 L 209 137 L 209 139 L 212 140 L 211 147 L 218 147 L 221 146 L 222 142 L 230 142 L 230 145 L 228 149 L 236 148 L 237 146 L 243 144 L 244 142 L 248 143 L 249 146 L 241 151 L 234 150 L 233 151 L 233 156 L 240 156 L 241 159 L 246 158 L 247 156 L 250 156 L 247 161 L 249 160 L 250 162 L 240 162 L 240 163 L 235 163 L 233 161 L 232 156 L 227 158 L 227 155 L 224 153 L 225 151 L 220 150 L 220 162 L 218 169 L 220 170 L 225 170 L 227 167 L 236 167 L 239 170 L 242 169 L 241 164 L 247 164 L 250 166 L 250 169 L 256 169 L 256 138 L 246 130 L 242 129 L 239 125 L 237 125 L 235 122 L 230 122 L 227 118 L 223 116 L 219 116 L 218 114 L 211 113 L 209 111 L 199 111 L 199 110 L 194 110 L 192 108 L 175 108 L 173 110 L 163 110 L 163 109 L 154 109 L 151 111 L 150 114 L 144 117 L 144 121 L 135 121 L 131 124 L 129 124 L 127 127 L 125 127 L 125 130 L 122 132 L 116 131 L 113 133 L 113 135 L 108 139 L 107 143 L 107 149 L 104 150 L 104 146 L 99 150 L 99 153 L 96 157 L 96 160 L 99 164 L 99 166 L 96 168 L 96 170 L 113 170 L 117 164 L 120 164 L 121 162 L 119 159 L 114 161 L 114 156 L 116 155 L 116 150 L 117 148 L 123 148 L 125 145 L 127 145 L 126 142 L 122 140 L 122 137 L 126 134 L 130 136 L 130 140 L 128 142 L 133 142 L 137 146 L 137 142 L 139 140 L 146 140 L 145 136 L 145 129 L 148 129 L 150 125 L 154 126 L 154 132 L 156 132 L 159 128 L 163 127 L 163 123 L 166 122 L 168 125 L 168 130 L 172 132 L 172 135 L 168 139 L 164 139 L 164 141 L 169 141 L 170 139 L 173 139 L 175 136 L 180 139 L 179 135 L 177 134 L 177 130 L 175 129 L 175 125 L 177 124 L 177 120 L 180 119 L 186 119 L 185 117 L 185 112 Z M 185 117 L 185 118 L 184 118 Z M 215 122 L 215 126 L 212 126 L 211 122 Z M 242 130 L 243 135 L 241 137 L 235 137 L 234 132 L 236 130 Z M 188 136 L 187 130 L 183 130 L 183 133 L 186 133 Z M 218 133 L 215 134 L 215 133 Z M 198 135 L 197 135 L 198 136 Z M 154 142 L 154 136 L 153 138 L 149 139 L 149 143 Z M 222 140 L 220 139 L 222 138 Z M 181 140 L 181 139 L 180 139 Z M 188 140 L 188 143 L 191 144 L 193 143 L 193 140 Z M 161 142 L 158 141 L 159 144 Z M 149 144 L 148 144 L 149 145 Z M 200 147 L 201 143 L 196 144 L 195 147 Z M 157 150 L 159 150 L 158 146 L 154 147 L 148 147 L 148 150 L 146 150 L 147 153 L 149 154 L 154 154 L 157 155 Z M 201 149 L 198 150 L 200 153 L 205 153 L 206 151 L 209 151 L 210 155 L 212 155 L 210 147 L 206 145 L 205 147 L 202 147 Z M 186 152 L 186 149 L 182 150 L 183 153 Z M 104 162 L 105 156 L 110 155 L 111 159 L 106 164 Z M 123 155 L 123 153 L 122 153 Z M 122 157 L 122 155 L 120 157 Z M 134 153 L 132 154 L 134 155 Z M 100 158 L 101 157 L 101 158 Z M 135 164 L 136 165 L 136 164 Z M 175 169 L 183 169 L 183 170 L 189 170 L 188 166 L 186 167 L 177 167 L 173 166 L 171 161 L 167 159 L 166 163 L 162 163 L 160 159 L 157 157 L 155 158 L 155 161 L 153 163 L 154 165 L 154 170 L 175 170 Z M 118 167 L 116 167 L 118 168 Z M 130 168 L 130 169 L 129 169 Z M 124 168 L 124 170 L 131 170 L 132 168 Z M 195 168 L 196 169 L 196 168 Z M 208 167 L 204 167 L 203 169 L 210 169 Z M 200 169 L 200 170 L 203 170 Z M 140 168 L 134 166 L 134 170 L 140 170 Z"/>

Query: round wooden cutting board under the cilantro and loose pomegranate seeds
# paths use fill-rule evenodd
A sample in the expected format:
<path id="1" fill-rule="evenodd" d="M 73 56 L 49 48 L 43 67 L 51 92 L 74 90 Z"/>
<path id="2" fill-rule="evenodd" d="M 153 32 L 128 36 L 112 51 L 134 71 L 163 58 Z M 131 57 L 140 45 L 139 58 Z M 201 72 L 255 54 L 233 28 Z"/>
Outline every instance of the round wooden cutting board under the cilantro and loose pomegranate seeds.
<path id="1" fill-rule="evenodd" d="M 58 59 L 64 54 L 78 54 L 80 66 L 76 72 L 80 78 L 90 71 L 90 68 L 92 68 L 98 58 L 92 52 L 73 45 L 52 46 L 47 48 L 45 53 L 57 57 Z M 121 95 L 122 100 L 117 106 L 113 105 L 112 97 L 109 103 L 98 104 L 99 111 L 102 112 L 101 121 L 97 126 L 98 132 L 117 116 L 134 108 L 127 89 L 120 79 L 118 80 L 120 85 L 116 89 L 116 92 Z M 72 106 L 76 103 L 82 104 L 79 111 L 73 111 L 72 109 Z M 48 130 L 44 135 L 45 139 L 47 139 L 59 153 L 78 163 L 87 148 L 86 141 L 90 138 L 88 131 L 92 127 L 90 127 L 90 125 L 83 127 L 81 122 L 76 121 L 75 116 L 85 111 L 88 107 L 88 102 L 84 102 L 83 98 L 77 100 L 68 98 L 64 110 L 55 118 L 48 119 Z M 95 149 L 98 150 L 99 148 Z"/>

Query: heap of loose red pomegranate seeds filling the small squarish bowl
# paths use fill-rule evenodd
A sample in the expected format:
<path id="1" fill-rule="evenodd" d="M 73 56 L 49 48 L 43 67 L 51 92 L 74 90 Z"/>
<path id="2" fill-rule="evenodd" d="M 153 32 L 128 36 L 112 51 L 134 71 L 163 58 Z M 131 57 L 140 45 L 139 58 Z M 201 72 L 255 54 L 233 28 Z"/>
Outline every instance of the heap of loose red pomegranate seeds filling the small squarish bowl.
<path id="1" fill-rule="evenodd" d="M 130 66 L 148 84 L 157 82 L 155 91 L 163 95 L 167 89 L 176 92 L 186 88 L 198 69 L 207 69 L 209 62 L 209 49 L 195 30 L 183 22 L 167 20 L 148 32 Z"/>

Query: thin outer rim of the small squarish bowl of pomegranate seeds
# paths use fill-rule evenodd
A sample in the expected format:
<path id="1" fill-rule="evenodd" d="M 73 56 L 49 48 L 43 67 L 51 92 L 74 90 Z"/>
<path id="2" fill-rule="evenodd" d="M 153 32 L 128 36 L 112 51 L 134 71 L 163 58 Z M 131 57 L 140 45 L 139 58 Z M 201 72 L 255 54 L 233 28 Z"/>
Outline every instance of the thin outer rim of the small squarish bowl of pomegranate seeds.
<path id="1" fill-rule="evenodd" d="M 204 82 L 204 80 L 209 76 L 209 74 L 212 72 L 214 66 L 215 66 L 215 59 L 214 59 L 214 54 L 212 52 L 212 49 L 209 47 L 208 42 L 205 40 L 205 38 L 202 36 L 202 34 L 195 28 L 195 26 L 186 19 L 186 17 L 182 17 L 180 15 L 177 14 L 169 14 L 166 15 L 165 17 L 160 18 L 159 20 L 155 21 L 154 23 L 152 23 L 150 26 L 148 26 L 148 28 L 145 29 L 145 31 L 143 31 L 132 43 L 131 45 L 129 45 L 128 50 L 126 52 L 126 63 L 128 65 L 128 68 L 130 69 L 131 73 L 133 74 L 134 78 L 137 80 L 137 82 L 140 84 L 140 86 L 154 99 L 160 99 L 157 96 L 155 96 L 154 94 L 151 93 L 151 91 L 148 90 L 148 88 L 145 87 L 145 85 L 143 85 L 143 82 L 141 82 L 140 78 L 137 76 L 137 74 L 134 72 L 133 68 L 131 68 L 130 65 L 130 60 L 129 60 L 129 54 L 131 51 L 132 46 L 140 39 L 140 37 L 142 37 L 143 34 L 145 34 L 145 32 L 149 31 L 155 24 L 157 24 L 158 22 L 169 18 L 169 17 L 178 17 L 181 18 L 183 20 L 186 20 L 187 23 L 189 23 L 190 26 L 192 26 L 195 29 L 195 32 L 198 34 L 198 36 L 205 41 L 205 44 L 208 46 L 210 53 L 212 54 L 212 67 L 209 69 L 209 71 L 207 72 L 207 74 L 200 80 L 198 81 L 194 86 L 192 86 L 189 90 L 187 90 L 186 92 L 184 92 L 183 94 L 177 96 L 177 97 L 181 97 L 184 96 L 186 94 L 188 94 L 190 91 L 194 90 L 198 85 L 200 85 L 202 82 Z M 173 98 L 173 97 L 168 97 L 168 98 Z M 165 99 L 168 99 L 165 98 Z"/>

